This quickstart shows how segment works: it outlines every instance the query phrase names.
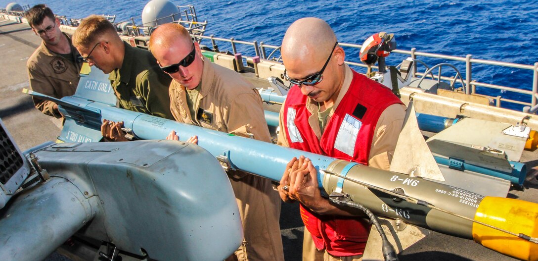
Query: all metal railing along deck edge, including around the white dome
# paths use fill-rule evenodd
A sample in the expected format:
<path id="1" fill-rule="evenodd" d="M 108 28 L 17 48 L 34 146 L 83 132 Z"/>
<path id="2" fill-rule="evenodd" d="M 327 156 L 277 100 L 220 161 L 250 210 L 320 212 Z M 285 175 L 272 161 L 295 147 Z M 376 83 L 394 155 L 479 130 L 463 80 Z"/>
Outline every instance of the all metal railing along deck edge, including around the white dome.
<path id="1" fill-rule="evenodd" d="M 251 46 L 251 48 L 254 51 L 254 56 L 258 56 L 263 59 L 268 60 L 275 60 L 275 61 L 281 61 L 281 57 L 277 57 L 276 54 L 280 53 L 280 46 L 275 45 L 268 45 L 264 44 L 264 42 L 258 42 L 254 40 L 253 42 L 246 42 L 242 40 L 236 40 L 234 38 L 218 38 L 211 36 L 204 36 L 203 33 L 206 30 L 207 21 L 204 22 L 198 22 L 198 19 L 196 17 L 196 10 L 194 6 L 192 5 L 180 5 L 178 6 L 178 10 L 181 10 L 178 13 L 175 13 L 171 16 L 160 18 L 160 19 L 167 19 L 172 17 L 172 20 L 175 23 L 182 24 L 185 26 L 189 32 L 192 34 L 193 38 L 195 38 L 198 42 L 201 42 L 203 39 L 209 40 L 211 42 L 211 46 L 214 49 L 218 50 L 217 42 L 225 42 L 229 43 L 231 45 L 231 49 L 233 54 L 236 54 L 237 51 L 237 45 L 247 45 Z M 12 11 L 6 11 L 5 9 L 0 9 L 0 13 L 2 15 L 13 15 L 13 16 L 19 16 L 22 17 L 24 12 L 12 12 Z M 111 22 L 114 22 L 115 16 L 107 16 Z M 79 20 L 76 19 L 67 19 L 65 17 L 59 17 L 62 24 L 70 25 L 70 26 L 77 26 Z M 132 23 L 129 25 L 125 25 L 127 28 L 127 33 L 130 36 L 150 36 L 151 32 L 155 29 L 155 26 L 137 26 L 134 25 L 134 20 L 130 20 Z M 156 20 L 158 21 L 158 20 Z M 19 21 L 20 22 L 20 21 Z M 121 23 L 118 23 L 121 24 Z M 360 50 L 360 47 L 362 45 L 358 44 L 346 44 L 346 43 L 340 43 L 340 46 L 349 47 L 353 49 L 357 49 L 356 53 L 358 53 L 358 50 Z M 251 49 L 251 50 L 252 50 Z M 271 51 L 271 52 L 268 52 Z M 415 48 L 411 49 L 410 51 L 407 50 L 394 50 L 393 53 L 399 53 L 399 54 L 405 54 L 407 56 L 410 56 L 412 59 L 417 61 L 415 64 L 423 64 L 422 61 L 420 61 L 420 58 L 438 58 L 438 59 L 444 59 L 449 62 L 457 62 L 462 63 L 465 65 L 465 70 L 463 71 L 465 73 L 465 83 L 464 86 L 461 86 L 461 88 L 465 91 L 466 94 L 477 94 L 482 95 L 484 97 L 490 98 L 493 101 L 495 101 L 495 106 L 500 107 L 501 102 L 507 102 L 509 104 L 516 104 L 516 105 L 522 105 L 524 112 L 529 113 L 536 113 L 538 112 L 538 63 L 535 63 L 534 65 L 525 65 L 525 64 L 515 64 L 515 63 L 506 63 L 502 61 L 493 61 L 493 60 L 484 60 L 484 59 L 473 59 L 471 54 L 468 54 L 465 57 L 458 57 L 458 56 L 448 56 L 444 54 L 435 54 L 435 53 L 427 53 L 427 52 L 417 52 Z M 267 54 L 268 53 L 268 54 Z M 247 58 L 247 56 L 243 56 L 244 58 Z M 346 64 L 352 65 L 352 66 L 358 66 L 358 67 L 367 67 L 366 65 L 362 63 L 357 63 L 355 61 L 345 61 Z M 521 70 L 527 70 L 531 71 L 533 73 L 533 82 L 532 82 L 532 89 L 531 90 L 524 90 L 522 88 L 514 88 L 509 86 L 503 86 L 503 85 L 495 85 L 495 84 L 489 84 L 489 83 L 483 83 L 481 81 L 474 80 L 472 68 L 473 65 L 491 65 L 491 66 L 500 66 L 500 67 L 509 67 L 509 68 L 519 68 Z M 376 66 L 372 66 L 373 68 L 377 68 Z M 462 67 L 462 66 L 460 66 Z M 414 67 L 415 70 L 412 72 L 413 77 L 422 77 L 424 76 L 423 72 L 418 72 L 416 70 L 416 66 Z M 463 74 L 463 73 L 462 73 Z M 455 77 L 447 77 L 443 76 L 441 72 L 441 67 L 438 67 L 438 73 L 428 73 L 425 75 L 425 77 L 434 79 L 434 80 L 444 80 L 444 81 L 450 81 L 451 86 L 454 84 L 459 84 L 459 81 L 456 82 L 456 76 Z M 530 99 L 527 99 L 527 101 L 522 100 L 515 100 L 515 99 L 509 99 L 506 97 L 503 97 L 502 95 L 498 95 L 497 97 L 493 97 L 491 95 L 485 95 L 485 94 L 479 94 L 477 93 L 477 86 L 485 88 L 485 90 L 498 90 L 502 92 L 513 92 L 513 93 L 519 93 L 526 95 Z"/>

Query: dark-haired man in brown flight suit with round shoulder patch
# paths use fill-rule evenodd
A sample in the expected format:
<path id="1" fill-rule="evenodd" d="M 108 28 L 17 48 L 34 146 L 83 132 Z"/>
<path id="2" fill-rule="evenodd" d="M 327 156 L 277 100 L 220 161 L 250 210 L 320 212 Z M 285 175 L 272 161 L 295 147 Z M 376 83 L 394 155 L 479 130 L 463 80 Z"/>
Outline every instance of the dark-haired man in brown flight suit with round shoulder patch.
<path id="1" fill-rule="evenodd" d="M 26 19 L 32 31 L 43 39 L 26 63 L 30 88 L 58 99 L 75 94 L 82 59 L 71 44 L 71 39 L 60 31 L 60 21 L 44 4 L 28 10 Z M 32 99 L 41 112 L 61 118 L 55 102 Z"/>

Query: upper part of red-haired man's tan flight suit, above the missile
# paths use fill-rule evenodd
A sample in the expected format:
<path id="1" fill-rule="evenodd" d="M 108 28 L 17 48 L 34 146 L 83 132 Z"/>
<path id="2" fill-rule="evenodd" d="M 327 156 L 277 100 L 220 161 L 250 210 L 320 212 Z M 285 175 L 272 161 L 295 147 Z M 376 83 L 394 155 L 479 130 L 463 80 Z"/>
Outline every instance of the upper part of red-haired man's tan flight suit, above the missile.
<path id="1" fill-rule="evenodd" d="M 194 103 L 198 105 L 197 119 L 190 116 L 185 87 L 176 81 L 170 84 L 170 111 L 176 121 L 270 142 L 261 97 L 252 84 L 238 73 L 209 61 L 203 63 L 201 83 Z"/>

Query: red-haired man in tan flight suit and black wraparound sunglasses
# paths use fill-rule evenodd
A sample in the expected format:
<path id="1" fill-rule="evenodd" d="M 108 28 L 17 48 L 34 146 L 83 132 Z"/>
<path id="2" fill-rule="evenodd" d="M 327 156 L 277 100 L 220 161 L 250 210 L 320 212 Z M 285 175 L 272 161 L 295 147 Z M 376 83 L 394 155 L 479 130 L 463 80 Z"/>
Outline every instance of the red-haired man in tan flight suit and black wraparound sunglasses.
<path id="1" fill-rule="evenodd" d="M 160 25 L 150 50 L 170 85 L 176 121 L 270 142 L 261 97 L 237 72 L 204 60 L 198 43 L 179 24 Z M 172 132 L 169 139 L 179 139 Z M 280 198 L 266 178 L 228 171 L 244 229 L 244 244 L 231 260 L 284 260 Z"/>

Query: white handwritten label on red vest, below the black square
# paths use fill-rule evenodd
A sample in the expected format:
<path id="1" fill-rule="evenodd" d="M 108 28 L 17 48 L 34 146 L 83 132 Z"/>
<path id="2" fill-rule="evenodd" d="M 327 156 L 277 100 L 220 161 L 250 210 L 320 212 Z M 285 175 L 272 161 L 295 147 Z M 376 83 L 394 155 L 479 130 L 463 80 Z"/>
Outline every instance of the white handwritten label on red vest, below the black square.
<path id="1" fill-rule="evenodd" d="M 336 135 L 335 149 L 353 156 L 357 135 L 359 134 L 359 129 L 362 125 L 363 123 L 359 120 L 353 118 L 349 114 L 345 114 L 342 125 L 340 125 L 340 129 Z"/>

